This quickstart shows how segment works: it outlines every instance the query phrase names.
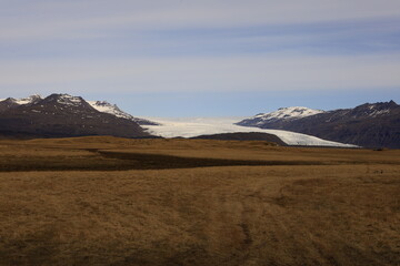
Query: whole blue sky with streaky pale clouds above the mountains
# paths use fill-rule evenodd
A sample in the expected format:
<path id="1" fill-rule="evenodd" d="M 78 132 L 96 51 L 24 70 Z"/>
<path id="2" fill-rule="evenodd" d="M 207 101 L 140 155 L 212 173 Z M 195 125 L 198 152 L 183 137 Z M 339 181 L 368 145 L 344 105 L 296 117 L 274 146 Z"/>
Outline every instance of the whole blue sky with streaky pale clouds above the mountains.
<path id="1" fill-rule="evenodd" d="M 136 116 L 400 102 L 399 0 L 0 0 L 0 99 Z"/>

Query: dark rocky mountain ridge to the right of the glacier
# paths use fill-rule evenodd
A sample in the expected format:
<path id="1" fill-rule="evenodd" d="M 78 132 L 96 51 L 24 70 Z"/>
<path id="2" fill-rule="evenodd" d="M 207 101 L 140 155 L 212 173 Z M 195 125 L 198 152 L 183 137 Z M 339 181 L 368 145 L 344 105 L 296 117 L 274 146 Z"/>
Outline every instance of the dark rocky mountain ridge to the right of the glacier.
<path id="1" fill-rule="evenodd" d="M 263 114 L 262 117 L 268 115 Z M 237 124 L 293 131 L 366 147 L 400 147 L 400 106 L 393 101 L 321 111 L 302 117 L 282 116 L 262 121 L 256 115 Z"/>

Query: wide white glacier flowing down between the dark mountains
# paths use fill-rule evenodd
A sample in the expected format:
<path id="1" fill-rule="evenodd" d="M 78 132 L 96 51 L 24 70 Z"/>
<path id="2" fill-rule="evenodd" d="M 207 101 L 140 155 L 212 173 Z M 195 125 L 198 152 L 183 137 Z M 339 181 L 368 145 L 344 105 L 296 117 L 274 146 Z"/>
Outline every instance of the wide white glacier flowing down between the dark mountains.
<path id="1" fill-rule="evenodd" d="M 221 133 L 261 132 L 277 135 L 288 145 L 356 147 L 356 145 L 326 141 L 289 131 L 240 126 L 234 124 L 238 121 L 237 119 L 148 119 L 160 123 L 160 125 L 143 125 L 142 127 L 147 129 L 151 134 L 163 137 L 193 137 Z"/>

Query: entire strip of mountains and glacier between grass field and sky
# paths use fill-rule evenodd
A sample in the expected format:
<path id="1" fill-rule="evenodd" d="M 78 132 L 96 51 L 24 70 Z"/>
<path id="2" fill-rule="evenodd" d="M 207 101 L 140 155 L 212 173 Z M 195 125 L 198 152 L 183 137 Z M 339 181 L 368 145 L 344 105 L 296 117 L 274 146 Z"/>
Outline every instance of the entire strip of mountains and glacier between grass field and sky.
<path id="1" fill-rule="evenodd" d="M 393 101 L 322 111 L 283 108 L 249 119 L 143 119 L 107 101 L 69 94 L 0 100 L 0 137 L 112 135 L 270 141 L 280 145 L 400 147 Z"/>

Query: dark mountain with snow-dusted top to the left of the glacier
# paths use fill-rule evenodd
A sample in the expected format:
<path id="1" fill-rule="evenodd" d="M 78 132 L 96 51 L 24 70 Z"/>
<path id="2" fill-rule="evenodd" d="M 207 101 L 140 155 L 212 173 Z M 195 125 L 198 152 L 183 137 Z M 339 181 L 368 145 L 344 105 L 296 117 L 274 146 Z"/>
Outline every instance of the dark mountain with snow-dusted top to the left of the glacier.
<path id="1" fill-rule="evenodd" d="M 0 102 L 0 135 L 69 137 L 113 135 L 150 136 L 134 121 L 99 112 L 80 96 L 51 94 L 44 99 L 7 99 Z"/>

